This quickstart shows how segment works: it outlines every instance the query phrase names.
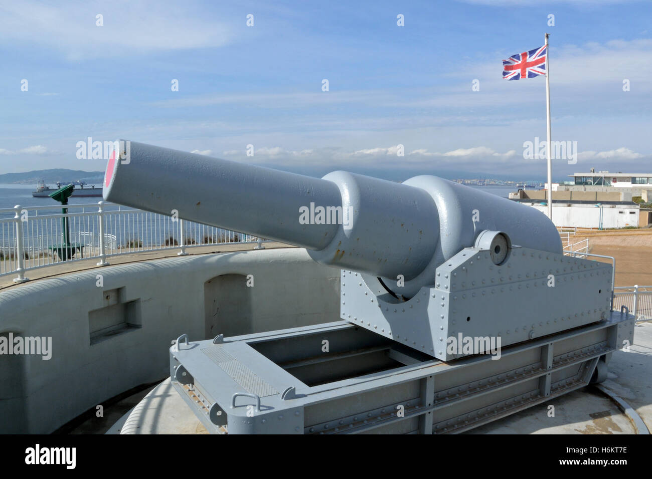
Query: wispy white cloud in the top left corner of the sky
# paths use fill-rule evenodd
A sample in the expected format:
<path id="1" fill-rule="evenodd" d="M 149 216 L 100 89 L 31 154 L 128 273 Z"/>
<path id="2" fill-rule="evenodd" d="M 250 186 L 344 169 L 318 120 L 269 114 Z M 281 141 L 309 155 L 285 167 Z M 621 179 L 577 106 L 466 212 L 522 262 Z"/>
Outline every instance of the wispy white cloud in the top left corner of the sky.
<path id="1" fill-rule="evenodd" d="M 70 7 L 64 2 L 4 2 L 0 8 L 0 40 L 3 44 L 18 40 L 57 48 L 70 60 L 226 44 L 232 36 L 230 27 L 196 13 L 201 8 L 192 3 L 161 1 L 155 6 L 114 0 Z M 103 16 L 103 26 L 96 25 L 98 14 Z"/>

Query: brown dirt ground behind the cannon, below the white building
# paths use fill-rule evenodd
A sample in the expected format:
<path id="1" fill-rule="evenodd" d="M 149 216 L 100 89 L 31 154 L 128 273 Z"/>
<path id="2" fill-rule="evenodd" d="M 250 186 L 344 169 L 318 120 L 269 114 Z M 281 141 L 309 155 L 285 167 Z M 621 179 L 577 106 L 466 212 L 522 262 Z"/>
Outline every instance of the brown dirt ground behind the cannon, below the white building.
<path id="1" fill-rule="evenodd" d="M 589 239 L 589 253 L 615 258 L 616 286 L 652 285 L 652 231 L 578 233 L 571 242 L 585 238 Z"/>

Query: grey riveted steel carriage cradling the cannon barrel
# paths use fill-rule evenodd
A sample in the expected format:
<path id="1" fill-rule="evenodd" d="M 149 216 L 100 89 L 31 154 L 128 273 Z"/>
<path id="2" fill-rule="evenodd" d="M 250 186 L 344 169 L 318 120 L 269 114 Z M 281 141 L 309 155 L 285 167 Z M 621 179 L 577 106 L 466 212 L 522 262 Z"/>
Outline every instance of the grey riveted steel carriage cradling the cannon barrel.
<path id="1" fill-rule="evenodd" d="M 340 317 L 445 361 L 467 355 L 447 347 L 460 335 L 504 347 L 602 321 L 611 309 L 611 265 L 518 246 L 501 265 L 464 248 L 407 301 L 366 280 L 342 270 Z"/>

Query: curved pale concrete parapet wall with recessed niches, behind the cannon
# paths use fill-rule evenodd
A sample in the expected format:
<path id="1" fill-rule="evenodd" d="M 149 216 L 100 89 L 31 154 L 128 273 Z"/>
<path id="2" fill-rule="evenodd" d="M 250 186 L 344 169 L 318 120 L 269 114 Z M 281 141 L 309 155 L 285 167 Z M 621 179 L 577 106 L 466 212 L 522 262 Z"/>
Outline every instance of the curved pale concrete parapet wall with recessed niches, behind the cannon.
<path id="1" fill-rule="evenodd" d="M 299 248 L 157 259 L 11 287 L 0 312 L 0 336 L 52 337 L 49 360 L 0 356 L 0 433 L 51 433 L 168 376 L 170 342 L 183 333 L 337 321 L 339 270 Z"/>

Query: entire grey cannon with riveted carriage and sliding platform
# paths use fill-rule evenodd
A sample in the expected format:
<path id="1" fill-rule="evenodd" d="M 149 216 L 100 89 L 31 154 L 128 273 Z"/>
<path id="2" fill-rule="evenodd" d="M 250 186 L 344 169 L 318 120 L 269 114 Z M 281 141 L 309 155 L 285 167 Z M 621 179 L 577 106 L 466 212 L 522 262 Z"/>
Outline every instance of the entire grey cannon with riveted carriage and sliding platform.
<path id="1" fill-rule="evenodd" d="M 317 179 L 121 145 L 107 201 L 341 269 L 342 321 L 171 347 L 172 383 L 211 432 L 463 431 L 604 380 L 632 343 L 612 265 L 564 255 L 531 207 L 429 175 Z"/>

